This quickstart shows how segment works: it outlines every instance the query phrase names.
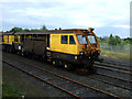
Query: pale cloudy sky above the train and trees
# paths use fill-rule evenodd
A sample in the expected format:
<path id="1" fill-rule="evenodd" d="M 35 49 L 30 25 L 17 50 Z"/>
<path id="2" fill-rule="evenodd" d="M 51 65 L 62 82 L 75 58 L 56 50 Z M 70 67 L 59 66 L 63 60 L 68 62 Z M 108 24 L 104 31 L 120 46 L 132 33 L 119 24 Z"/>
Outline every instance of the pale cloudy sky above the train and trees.
<path id="1" fill-rule="evenodd" d="M 1 30 L 88 29 L 98 36 L 130 36 L 131 0 L 0 0 Z"/>

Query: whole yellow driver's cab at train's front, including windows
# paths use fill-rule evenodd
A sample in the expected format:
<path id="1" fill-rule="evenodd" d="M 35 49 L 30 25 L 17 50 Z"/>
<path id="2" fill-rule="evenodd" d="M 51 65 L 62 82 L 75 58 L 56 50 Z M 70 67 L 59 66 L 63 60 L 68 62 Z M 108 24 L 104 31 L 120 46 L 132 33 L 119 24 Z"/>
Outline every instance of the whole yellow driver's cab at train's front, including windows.
<path id="1" fill-rule="evenodd" d="M 66 32 L 51 34 L 51 51 L 74 55 L 99 51 L 99 42 L 91 29 Z"/>

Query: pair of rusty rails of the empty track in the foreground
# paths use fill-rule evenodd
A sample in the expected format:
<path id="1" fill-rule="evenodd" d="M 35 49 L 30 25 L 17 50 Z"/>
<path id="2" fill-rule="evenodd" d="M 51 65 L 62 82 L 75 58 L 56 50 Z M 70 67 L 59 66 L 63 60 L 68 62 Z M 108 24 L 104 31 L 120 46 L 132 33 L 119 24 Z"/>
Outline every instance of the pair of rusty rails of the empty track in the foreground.
<path id="1" fill-rule="evenodd" d="M 11 64 L 11 63 L 9 63 L 9 62 L 6 62 L 6 61 L 3 61 L 3 62 L 7 63 L 7 64 L 9 64 L 9 65 L 11 65 L 11 66 L 13 66 L 13 67 L 15 67 L 15 68 L 18 68 L 18 69 L 20 69 L 20 70 L 22 70 L 22 72 L 24 72 L 24 73 L 28 73 L 28 74 L 31 75 L 31 76 L 34 76 L 33 74 L 24 70 L 23 68 L 20 68 L 20 67 L 18 67 L 18 66 L 14 66 L 13 64 Z M 37 67 L 37 66 L 33 66 L 33 65 L 28 64 L 28 63 L 24 63 L 24 64 L 26 64 L 26 65 L 29 65 L 29 66 L 32 66 L 32 67 L 34 67 L 34 68 L 41 69 L 41 70 L 43 70 L 43 72 L 46 72 L 46 73 L 48 73 L 48 74 L 52 74 L 52 75 L 54 75 L 54 76 L 57 76 L 57 77 L 59 77 L 59 78 L 69 80 L 69 81 L 72 81 L 72 82 L 77 84 L 77 85 L 80 85 L 80 86 L 82 86 L 82 87 L 87 87 L 87 88 L 90 88 L 90 89 L 96 90 L 96 91 L 98 91 L 98 92 L 105 94 L 105 95 L 107 95 L 107 96 L 114 97 L 114 98 L 119 98 L 118 96 L 114 96 L 114 95 L 112 95 L 112 94 L 102 91 L 102 90 L 100 90 L 100 89 L 97 89 L 97 88 L 90 87 L 90 86 L 88 86 L 88 85 L 78 82 L 78 81 L 73 80 L 73 79 L 70 79 L 70 78 L 61 76 L 61 75 L 55 74 L 55 73 L 52 73 L 52 72 L 48 72 L 48 70 L 46 70 L 46 69 L 44 69 L 44 68 L 41 68 L 41 67 Z M 36 76 L 36 75 L 35 75 L 34 77 L 40 79 L 40 77 Z M 42 79 L 42 78 L 41 78 L 41 79 Z M 43 80 L 44 80 L 44 79 L 43 79 Z M 43 80 L 42 80 L 42 81 L 43 81 Z M 45 82 L 46 82 L 46 81 L 45 81 Z M 65 91 L 65 92 L 68 92 L 69 95 L 72 95 L 72 96 L 74 96 L 74 97 L 80 98 L 79 96 L 77 96 L 77 95 L 75 95 L 75 94 L 72 94 L 70 91 L 67 91 L 66 89 L 63 89 L 63 88 L 58 87 L 57 85 L 54 85 L 53 82 L 50 82 L 50 81 L 48 81 L 47 84 L 50 84 L 50 85 L 52 85 L 52 86 L 54 86 L 54 87 L 56 87 L 56 88 L 58 88 L 58 89 L 61 89 L 61 90 L 63 90 L 63 91 Z"/>

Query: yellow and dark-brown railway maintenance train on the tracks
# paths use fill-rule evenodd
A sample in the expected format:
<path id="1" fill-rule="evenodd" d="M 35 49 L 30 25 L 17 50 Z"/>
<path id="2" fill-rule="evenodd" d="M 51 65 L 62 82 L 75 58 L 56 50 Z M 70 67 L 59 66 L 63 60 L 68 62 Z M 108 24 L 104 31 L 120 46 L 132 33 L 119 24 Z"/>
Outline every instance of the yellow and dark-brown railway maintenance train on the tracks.
<path id="1" fill-rule="evenodd" d="M 100 45 L 94 29 L 48 30 L 2 33 L 2 50 L 34 56 L 79 73 L 92 73 L 101 61 Z"/>

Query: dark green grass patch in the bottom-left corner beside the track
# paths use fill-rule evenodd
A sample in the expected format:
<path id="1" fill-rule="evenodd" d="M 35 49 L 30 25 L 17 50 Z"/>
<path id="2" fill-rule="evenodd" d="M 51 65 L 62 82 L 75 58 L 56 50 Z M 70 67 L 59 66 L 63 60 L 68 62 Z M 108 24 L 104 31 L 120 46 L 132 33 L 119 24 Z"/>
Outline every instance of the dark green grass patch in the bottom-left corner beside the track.
<path id="1" fill-rule="evenodd" d="M 18 97 L 21 99 L 21 94 L 18 91 L 16 86 L 11 82 L 2 84 L 2 97 Z"/>

